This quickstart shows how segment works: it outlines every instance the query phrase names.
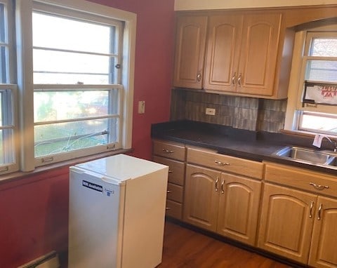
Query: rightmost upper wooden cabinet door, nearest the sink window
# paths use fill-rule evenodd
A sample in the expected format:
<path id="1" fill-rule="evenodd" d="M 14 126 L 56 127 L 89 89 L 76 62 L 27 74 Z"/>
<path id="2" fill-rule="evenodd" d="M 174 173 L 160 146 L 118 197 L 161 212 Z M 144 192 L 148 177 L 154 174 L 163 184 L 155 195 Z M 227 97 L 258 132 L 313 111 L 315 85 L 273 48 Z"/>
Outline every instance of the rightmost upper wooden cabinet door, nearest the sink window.
<path id="1" fill-rule="evenodd" d="M 244 18 L 237 92 L 272 95 L 281 14 L 249 14 Z"/>

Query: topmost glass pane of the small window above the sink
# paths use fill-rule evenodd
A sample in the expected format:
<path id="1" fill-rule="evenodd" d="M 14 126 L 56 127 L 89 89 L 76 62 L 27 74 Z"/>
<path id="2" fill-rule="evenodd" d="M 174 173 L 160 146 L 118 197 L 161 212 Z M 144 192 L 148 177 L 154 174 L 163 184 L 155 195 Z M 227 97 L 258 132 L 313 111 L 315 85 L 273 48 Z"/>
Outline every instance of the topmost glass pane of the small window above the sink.
<path id="1" fill-rule="evenodd" d="M 314 38 L 312 39 L 310 56 L 337 57 L 336 38 Z"/>

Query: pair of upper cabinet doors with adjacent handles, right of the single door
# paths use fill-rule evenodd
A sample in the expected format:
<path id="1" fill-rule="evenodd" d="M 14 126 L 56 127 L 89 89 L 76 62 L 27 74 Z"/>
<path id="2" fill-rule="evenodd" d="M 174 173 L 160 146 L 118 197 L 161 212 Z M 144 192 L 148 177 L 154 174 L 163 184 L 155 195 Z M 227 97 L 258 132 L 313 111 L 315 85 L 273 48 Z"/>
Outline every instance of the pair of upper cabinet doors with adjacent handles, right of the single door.
<path id="1" fill-rule="evenodd" d="M 211 16 L 204 88 L 273 95 L 280 26 L 280 13 Z"/>

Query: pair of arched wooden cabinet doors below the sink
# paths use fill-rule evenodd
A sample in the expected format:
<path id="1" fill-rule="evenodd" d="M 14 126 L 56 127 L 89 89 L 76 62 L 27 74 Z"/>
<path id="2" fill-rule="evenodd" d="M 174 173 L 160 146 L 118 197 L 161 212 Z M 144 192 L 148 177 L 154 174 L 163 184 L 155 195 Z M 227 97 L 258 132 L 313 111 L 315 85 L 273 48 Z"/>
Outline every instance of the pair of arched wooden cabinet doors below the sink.
<path id="1" fill-rule="evenodd" d="M 337 200 L 265 184 L 258 247 L 312 267 L 337 267 Z"/>

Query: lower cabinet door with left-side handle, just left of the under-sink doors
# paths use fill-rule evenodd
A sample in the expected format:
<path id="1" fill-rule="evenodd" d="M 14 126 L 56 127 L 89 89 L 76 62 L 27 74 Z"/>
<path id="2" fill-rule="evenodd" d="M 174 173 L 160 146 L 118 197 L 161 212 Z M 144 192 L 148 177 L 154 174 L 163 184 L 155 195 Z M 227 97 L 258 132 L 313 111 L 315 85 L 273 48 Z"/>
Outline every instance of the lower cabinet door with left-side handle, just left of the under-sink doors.
<path id="1" fill-rule="evenodd" d="M 261 182 L 222 174 L 217 232 L 255 245 Z"/>

